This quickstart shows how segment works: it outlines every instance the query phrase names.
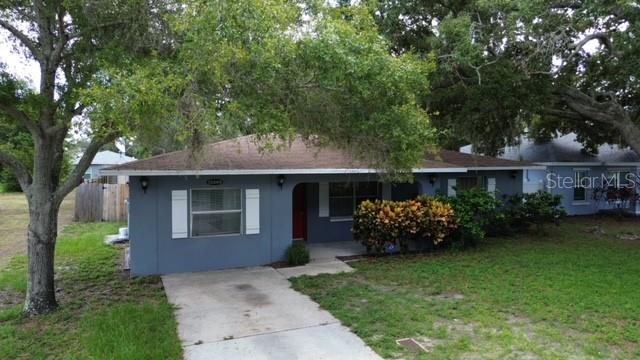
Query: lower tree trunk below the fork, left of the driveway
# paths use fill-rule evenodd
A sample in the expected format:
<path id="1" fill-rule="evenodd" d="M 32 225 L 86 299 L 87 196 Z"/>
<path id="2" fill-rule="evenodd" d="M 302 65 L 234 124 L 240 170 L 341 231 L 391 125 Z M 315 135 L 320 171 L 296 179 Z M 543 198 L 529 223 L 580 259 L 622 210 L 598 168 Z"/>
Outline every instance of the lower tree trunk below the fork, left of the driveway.
<path id="1" fill-rule="evenodd" d="M 58 306 L 53 279 L 59 205 L 51 194 L 41 192 L 31 193 L 29 199 L 29 272 L 24 304 L 28 315 L 46 314 Z"/>

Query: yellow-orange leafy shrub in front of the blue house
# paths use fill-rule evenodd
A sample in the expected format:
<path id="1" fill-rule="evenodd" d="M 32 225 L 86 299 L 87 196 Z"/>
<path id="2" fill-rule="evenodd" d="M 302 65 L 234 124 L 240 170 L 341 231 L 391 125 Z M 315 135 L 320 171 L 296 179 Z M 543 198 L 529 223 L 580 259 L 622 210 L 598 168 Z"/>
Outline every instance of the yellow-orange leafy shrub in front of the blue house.
<path id="1" fill-rule="evenodd" d="M 364 201 L 353 216 L 354 238 L 368 252 L 384 253 L 389 247 L 409 250 L 433 247 L 455 229 L 453 209 L 436 199 L 424 201 Z"/>

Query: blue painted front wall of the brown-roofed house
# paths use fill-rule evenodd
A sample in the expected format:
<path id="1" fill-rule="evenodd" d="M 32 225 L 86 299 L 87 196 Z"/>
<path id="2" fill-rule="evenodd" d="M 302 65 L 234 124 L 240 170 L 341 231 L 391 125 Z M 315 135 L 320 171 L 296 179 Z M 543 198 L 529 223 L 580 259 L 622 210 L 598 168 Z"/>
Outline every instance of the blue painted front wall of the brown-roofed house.
<path id="1" fill-rule="evenodd" d="M 522 191 L 522 171 L 517 171 L 516 179 L 512 178 L 511 171 L 482 171 L 478 174 L 496 178 L 500 193 Z M 417 174 L 415 181 L 422 193 L 435 195 L 438 190 L 446 193 L 447 179 L 469 175 L 438 174 L 431 184 L 429 174 Z M 331 221 L 328 217 L 318 216 L 318 183 L 378 180 L 376 174 L 287 175 L 284 184 L 279 186 L 277 175 L 232 175 L 215 176 L 223 184 L 210 186 L 206 183 L 210 178 L 149 177 L 146 192 L 140 187 L 140 177 L 130 178 L 132 275 L 256 266 L 283 260 L 293 241 L 293 189 L 302 183 L 307 186 L 307 240 L 310 243 L 349 240 L 352 238 L 351 221 Z M 388 186 L 383 185 L 383 194 L 392 198 L 394 190 Z M 260 233 L 172 239 L 171 191 L 224 187 L 240 188 L 243 193 L 245 189 L 260 189 Z M 403 192 L 406 188 L 397 190 L 396 198 Z"/>

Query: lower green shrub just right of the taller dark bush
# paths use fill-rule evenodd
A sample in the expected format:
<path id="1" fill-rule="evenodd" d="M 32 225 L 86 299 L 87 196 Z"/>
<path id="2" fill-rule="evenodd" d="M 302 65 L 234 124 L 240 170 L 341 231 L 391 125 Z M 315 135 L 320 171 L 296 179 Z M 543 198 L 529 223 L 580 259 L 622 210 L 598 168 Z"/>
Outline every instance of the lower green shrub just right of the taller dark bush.
<path id="1" fill-rule="evenodd" d="M 545 224 L 559 224 L 566 212 L 560 204 L 562 196 L 538 191 L 532 194 L 513 195 L 505 203 L 505 217 L 511 227 L 528 229 L 534 225 L 538 231 Z"/>

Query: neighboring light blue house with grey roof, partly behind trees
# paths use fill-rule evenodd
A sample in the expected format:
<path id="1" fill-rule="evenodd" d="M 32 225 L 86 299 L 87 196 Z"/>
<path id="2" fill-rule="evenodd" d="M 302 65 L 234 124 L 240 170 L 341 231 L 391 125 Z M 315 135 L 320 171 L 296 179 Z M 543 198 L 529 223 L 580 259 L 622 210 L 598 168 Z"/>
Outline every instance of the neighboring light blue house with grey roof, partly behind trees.
<path id="1" fill-rule="evenodd" d="M 471 153 L 472 147 L 467 145 L 460 151 Z M 524 192 L 544 189 L 562 195 L 562 205 L 569 215 L 618 208 L 640 212 L 635 196 L 629 196 L 636 190 L 640 156 L 629 148 L 605 144 L 597 154 L 589 154 L 571 133 L 542 144 L 523 137 L 520 145 L 504 148 L 499 157 L 545 166 L 546 170 L 525 171 Z M 625 191 L 630 200 L 618 200 Z"/>

